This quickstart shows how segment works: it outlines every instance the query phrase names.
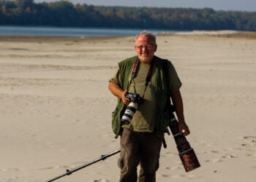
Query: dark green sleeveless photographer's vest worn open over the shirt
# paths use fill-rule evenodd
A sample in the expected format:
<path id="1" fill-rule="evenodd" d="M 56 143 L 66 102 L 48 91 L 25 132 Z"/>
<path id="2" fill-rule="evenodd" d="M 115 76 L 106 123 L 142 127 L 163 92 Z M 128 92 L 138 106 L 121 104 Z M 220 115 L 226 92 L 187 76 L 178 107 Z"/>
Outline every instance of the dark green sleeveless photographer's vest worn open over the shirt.
<path id="1" fill-rule="evenodd" d="M 138 56 L 128 58 L 118 63 L 119 73 L 120 73 L 120 87 L 123 90 L 127 90 L 129 84 L 129 78 L 132 72 L 133 65 Z M 162 63 L 167 62 L 170 64 L 170 61 L 162 60 L 157 56 L 154 56 L 154 66 L 156 74 L 156 84 L 154 85 L 154 93 L 157 100 L 157 114 L 155 118 L 155 131 L 164 132 L 168 126 L 170 119 L 169 114 L 167 113 L 167 99 L 169 99 L 167 94 L 167 84 L 165 82 L 165 71 L 162 68 Z M 122 102 L 121 98 L 118 98 L 118 103 L 116 110 L 112 113 L 112 129 L 116 134 L 116 138 L 121 131 L 121 116 L 124 114 L 126 106 Z"/>

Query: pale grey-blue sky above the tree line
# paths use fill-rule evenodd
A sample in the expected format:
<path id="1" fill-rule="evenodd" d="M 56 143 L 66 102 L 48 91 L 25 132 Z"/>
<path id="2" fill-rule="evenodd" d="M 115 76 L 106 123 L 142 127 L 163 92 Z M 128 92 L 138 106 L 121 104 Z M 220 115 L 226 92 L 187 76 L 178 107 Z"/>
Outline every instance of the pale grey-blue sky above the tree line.
<path id="1" fill-rule="evenodd" d="M 34 0 L 34 2 L 58 0 Z M 256 12 L 256 0 L 69 0 L 73 4 L 124 7 L 210 7 L 215 10 Z"/>

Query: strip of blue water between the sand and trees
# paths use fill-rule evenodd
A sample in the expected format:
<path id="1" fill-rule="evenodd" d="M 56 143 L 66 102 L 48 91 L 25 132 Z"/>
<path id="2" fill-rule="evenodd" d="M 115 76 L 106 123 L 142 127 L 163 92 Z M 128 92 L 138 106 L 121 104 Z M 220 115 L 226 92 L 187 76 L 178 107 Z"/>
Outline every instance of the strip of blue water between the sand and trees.
<path id="1" fill-rule="evenodd" d="M 16 36 L 135 36 L 140 31 L 143 29 L 0 26 L 0 35 Z M 157 33 L 164 30 L 147 31 Z"/>

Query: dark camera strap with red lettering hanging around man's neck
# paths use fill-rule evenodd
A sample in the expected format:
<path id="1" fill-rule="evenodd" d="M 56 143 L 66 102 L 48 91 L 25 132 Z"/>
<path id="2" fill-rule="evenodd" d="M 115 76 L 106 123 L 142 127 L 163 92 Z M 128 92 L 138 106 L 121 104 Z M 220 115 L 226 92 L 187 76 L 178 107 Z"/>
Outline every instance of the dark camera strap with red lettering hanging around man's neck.
<path id="1" fill-rule="evenodd" d="M 135 77 L 136 77 L 137 74 L 138 74 L 138 68 L 139 68 L 139 66 L 140 66 L 140 60 L 139 60 L 139 58 L 137 58 L 137 59 L 135 60 L 134 66 L 133 66 L 133 68 L 132 68 L 132 79 L 131 79 L 131 81 L 129 82 L 128 89 L 127 89 L 128 91 L 129 91 L 130 85 L 132 84 L 132 80 L 135 79 Z M 150 68 L 148 69 L 148 74 L 147 74 L 147 76 L 146 76 L 145 89 L 144 89 L 142 98 L 144 98 L 146 89 L 147 89 L 147 87 L 148 87 L 148 82 L 150 82 L 150 80 L 151 80 L 151 76 L 152 76 L 152 73 L 153 73 L 153 68 L 154 68 L 154 58 L 153 58 L 153 60 L 152 60 L 151 63 L 150 63 Z"/>

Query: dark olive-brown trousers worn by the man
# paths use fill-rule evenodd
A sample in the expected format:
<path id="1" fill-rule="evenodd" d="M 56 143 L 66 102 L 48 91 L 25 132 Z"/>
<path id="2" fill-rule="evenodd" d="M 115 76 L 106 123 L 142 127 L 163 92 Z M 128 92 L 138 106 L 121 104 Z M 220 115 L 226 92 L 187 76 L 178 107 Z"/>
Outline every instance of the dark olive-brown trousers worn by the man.
<path id="1" fill-rule="evenodd" d="M 156 182 L 163 137 L 163 133 L 133 132 L 124 128 L 118 159 L 118 167 L 121 169 L 119 182 Z"/>

